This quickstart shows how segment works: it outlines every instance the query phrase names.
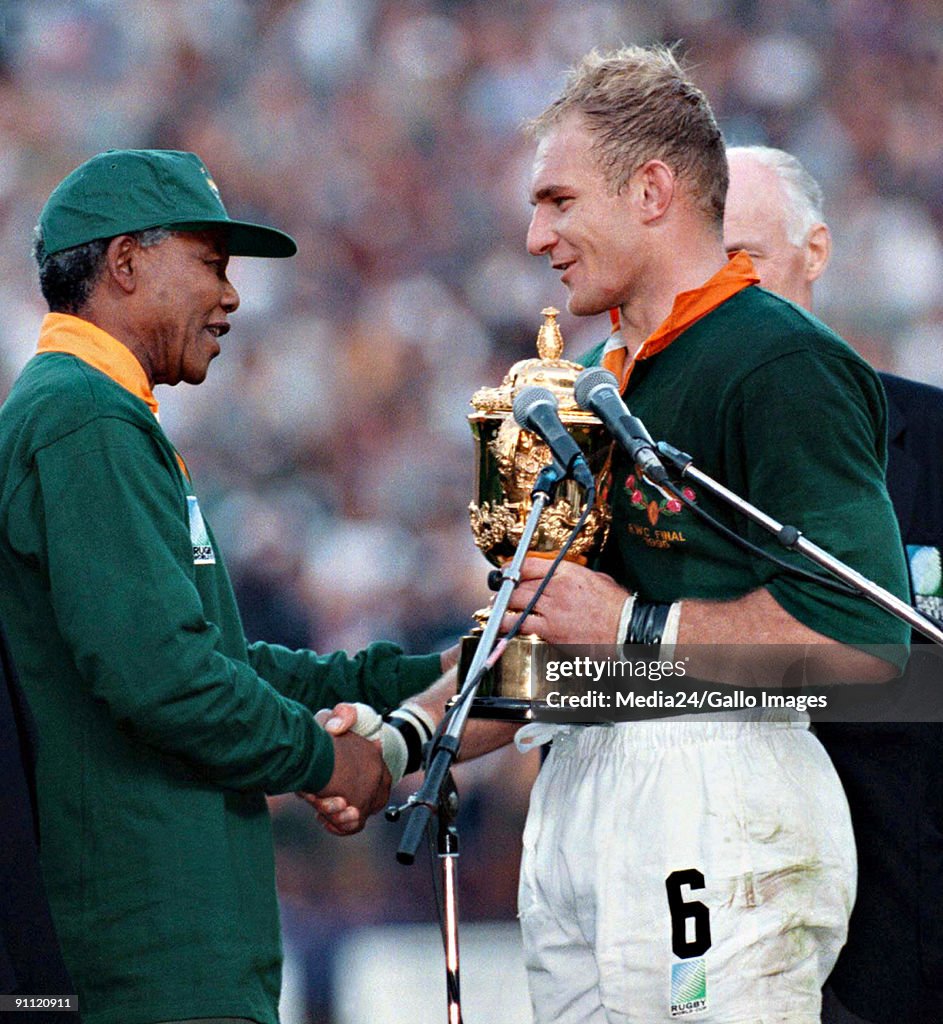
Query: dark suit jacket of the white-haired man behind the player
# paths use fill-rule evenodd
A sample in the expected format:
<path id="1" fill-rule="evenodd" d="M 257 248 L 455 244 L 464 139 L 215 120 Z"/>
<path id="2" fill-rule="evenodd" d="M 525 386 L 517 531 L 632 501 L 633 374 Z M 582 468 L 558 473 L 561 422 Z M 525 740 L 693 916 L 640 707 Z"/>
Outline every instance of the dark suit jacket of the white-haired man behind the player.
<path id="1" fill-rule="evenodd" d="M 943 551 L 943 390 L 882 380 L 901 537 Z M 927 600 L 914 596 L 925 613 Z M 858 845 L 858 897 L 830 984 L 867 1021 L 943 1024 L 943 725 L 820 723 L 816 731 L 848 795 Z"/>

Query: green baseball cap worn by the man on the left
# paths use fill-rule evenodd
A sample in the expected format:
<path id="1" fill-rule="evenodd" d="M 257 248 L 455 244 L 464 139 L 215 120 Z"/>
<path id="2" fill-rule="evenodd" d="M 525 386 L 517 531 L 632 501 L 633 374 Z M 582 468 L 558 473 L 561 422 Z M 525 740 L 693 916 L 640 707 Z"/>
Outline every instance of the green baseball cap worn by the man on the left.
<path id="1" fill-rule="evenodd" d="M 295 240 L 274 227 L 233 220 L 195 153 L 109 150 L 77 167 L 39 215 L 47 253 L 149 227 L 225 227 L 231 256 L 294 256 Z"/>

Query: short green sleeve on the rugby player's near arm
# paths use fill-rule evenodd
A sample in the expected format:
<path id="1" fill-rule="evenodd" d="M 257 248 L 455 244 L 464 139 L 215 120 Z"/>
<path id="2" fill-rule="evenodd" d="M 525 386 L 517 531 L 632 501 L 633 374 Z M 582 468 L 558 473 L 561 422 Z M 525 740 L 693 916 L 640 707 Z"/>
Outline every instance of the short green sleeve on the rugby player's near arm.
<path id="1" fill-rule="evenodd" d="M 745 497 L 886 590 L 907 600 L 903 547 L 885 486 L 887 412 L 876 376 L 860 360 L 795 352 L 743 382 L 736 433 L 749 467 Z M 739 454 L 736 456 L 739 458 Z M 751 525 L 751 540 L 827 575 Z M 800 622 L 844 643 L 900 645 L 908 627 L 862 597 L 838 594 L 754 560 L 760 582 Z"/>

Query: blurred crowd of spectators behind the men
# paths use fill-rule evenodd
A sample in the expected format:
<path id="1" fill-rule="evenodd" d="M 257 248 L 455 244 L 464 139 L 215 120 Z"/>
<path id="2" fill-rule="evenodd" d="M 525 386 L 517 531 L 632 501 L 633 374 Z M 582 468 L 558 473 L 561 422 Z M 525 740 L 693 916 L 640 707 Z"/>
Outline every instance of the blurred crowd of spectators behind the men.
<path id="1" fill-rule="evenodd" d="M 790 150 L 822 183 L 820 315 L 943 385 L 939 0 L 6 0 L 0 17 L 0 397 L 45 311 L 38 212 L 94 153 L 196 151 L 230 213 L 298 240 L 294 260 L 233 262 L 242 308 L 209 380 L 158 392 L 251 638 L 439 649 L 486 600 L 468 399 L 565 303 L 524 250 L 520 125 L 592 46 L 682 41 L 728 141 Z M 604 319 L 564 313 L 567 354 Z M 465 921 L 513 918 L 534 771 L 506 751 L 457 773 Z M 394 862 L 398 826 L 341 842 L 299 801 L 272 807 L 304 1013 L 329 1021 L 338 937 L 433 921 L 432 878 Z"/>

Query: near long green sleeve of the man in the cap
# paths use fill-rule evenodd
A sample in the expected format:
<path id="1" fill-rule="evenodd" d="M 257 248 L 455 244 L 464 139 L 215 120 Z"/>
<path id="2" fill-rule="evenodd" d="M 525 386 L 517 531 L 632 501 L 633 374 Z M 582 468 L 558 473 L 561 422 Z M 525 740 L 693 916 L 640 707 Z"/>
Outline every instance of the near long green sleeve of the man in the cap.
<path id="1" fill-rule="evenodd" d="M 185 492 L 168 462 L 155 436 L 105 418 L 36 454 L 36 525 L 80 677 L 119 729 L 201 777 L 316 791 L 333 771 L 331 739 L 307 708 L 221 653 L 196 586 Z"/>

